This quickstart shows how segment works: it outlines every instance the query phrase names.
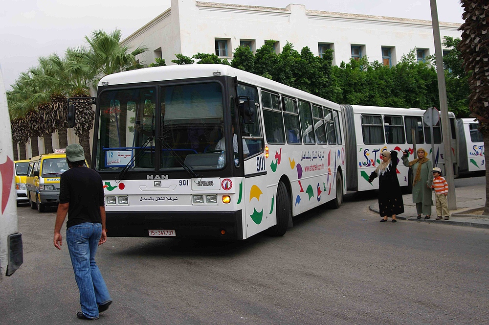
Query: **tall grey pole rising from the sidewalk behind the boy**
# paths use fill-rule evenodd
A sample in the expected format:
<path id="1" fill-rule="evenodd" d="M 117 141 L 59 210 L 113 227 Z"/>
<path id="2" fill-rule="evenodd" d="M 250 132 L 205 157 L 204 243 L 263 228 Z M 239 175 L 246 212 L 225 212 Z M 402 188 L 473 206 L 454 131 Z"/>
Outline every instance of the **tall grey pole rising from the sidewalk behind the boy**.
<path id="1" fill-rule="evenodd" d="M 450 122 L 448 120 L 448 105 L 446 103 L 445 71 L 443 67 L 442 41 L 440 37 L 440 24 L 436 0 L 430 0 L 431 23 L 433 25 L 433 39 L 435 41 L 436 71 L 438 75 L 438 95 L 440 97 L 440 110 L 442 117 L 443 144 L 445 148 L 445 179 L 448 183 L 448 209 L 457 209 L 455 196 L 455 180 L 453 176 L 452 148 L 450 143 Z M 434 139 L 431 138 L 431 141 Z"/>

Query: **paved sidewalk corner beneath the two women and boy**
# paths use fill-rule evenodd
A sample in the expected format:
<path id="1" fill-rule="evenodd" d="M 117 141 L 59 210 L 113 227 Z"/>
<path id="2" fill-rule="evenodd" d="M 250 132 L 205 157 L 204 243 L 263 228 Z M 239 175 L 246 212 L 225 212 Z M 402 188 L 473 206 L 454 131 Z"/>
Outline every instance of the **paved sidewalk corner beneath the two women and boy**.
<path id="1" fill-rule="evenodd" d="M 433 207 L 431 218 L 424 220 L 424 215 L 421 219 L 417 219 L 418 213 L 416 212 L 416 204 L 413 203 L 413 197 L 411 194 L 405 194 L 402 196 L 404 201 L 404 213 L 397 215 L 396 218 L 400 220 L 418 221 L 418 222 L 431 222 L 445 225 L 456 226 L 469 226 L 477 228 L 489 229 L 489 216 L 482 215 L 484 206 L 486 205 L 486 185 L 474 185 L 474 186 L 455 186 L 455 193 L 457 197 L 457 209 L 450 210 L 449 220 L 435 220 L 436 208 L 435 208 L 435 196 L 433 195 Z M 378 202 L 370 205 L 370 210 L 379 213 Z"/>

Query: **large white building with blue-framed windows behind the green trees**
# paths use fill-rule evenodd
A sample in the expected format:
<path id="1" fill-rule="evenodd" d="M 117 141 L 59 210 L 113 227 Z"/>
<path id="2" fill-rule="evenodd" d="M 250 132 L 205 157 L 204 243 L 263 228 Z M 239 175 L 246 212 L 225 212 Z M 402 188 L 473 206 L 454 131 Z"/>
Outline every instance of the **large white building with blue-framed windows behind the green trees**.
<path id="1" fill-rule="evenodd" d="M 440 22 L 442 38 L 460 37 L 459 27 Z M 395 65 L 413 48 L 419 60 L 435 53 L 430 21 L 307 10 L 301 4 L 270 8 L 196 0 L 171 0 L 171 8 L 123 44 L 149 47 L 138 57 L 140 62 L 164 58 L 172 64 L 176 53 L 216 53 L 231 60 L 236 47 L 247 45 L 256 51 L 266 40 L 276 41 L 277 53 L 287 41 L 298 51 L 309 46 L 316 55 L 332 48 L 335 65 L 364 55 L 369 61 Z"/>

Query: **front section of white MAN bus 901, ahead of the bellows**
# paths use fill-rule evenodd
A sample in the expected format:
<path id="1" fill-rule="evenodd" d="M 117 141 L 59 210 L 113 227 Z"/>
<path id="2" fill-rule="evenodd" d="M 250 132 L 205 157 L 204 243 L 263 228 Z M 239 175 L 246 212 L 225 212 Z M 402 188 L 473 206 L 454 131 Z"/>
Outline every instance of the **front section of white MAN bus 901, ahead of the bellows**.
<path id="1" fill-rule="evenodd" d="M 109 236 L 283 235 L 345 191 L 340 106 L 224 65 L 100 80 L 91 167 Z"/>

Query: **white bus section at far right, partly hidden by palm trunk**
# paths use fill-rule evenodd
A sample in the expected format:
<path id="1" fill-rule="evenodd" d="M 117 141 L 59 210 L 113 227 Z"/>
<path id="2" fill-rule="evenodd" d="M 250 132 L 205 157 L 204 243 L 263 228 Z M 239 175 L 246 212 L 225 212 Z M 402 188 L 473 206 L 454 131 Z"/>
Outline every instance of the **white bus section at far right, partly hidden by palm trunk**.
<path id="1" fill-rule="evenodd" d="M 478 127 L 473 118 L 457 118 L 460 173 L 486 171 L 484 139 Z"/>

